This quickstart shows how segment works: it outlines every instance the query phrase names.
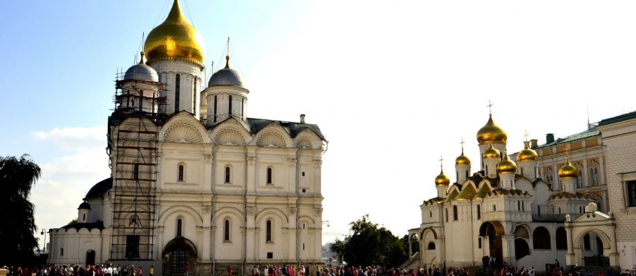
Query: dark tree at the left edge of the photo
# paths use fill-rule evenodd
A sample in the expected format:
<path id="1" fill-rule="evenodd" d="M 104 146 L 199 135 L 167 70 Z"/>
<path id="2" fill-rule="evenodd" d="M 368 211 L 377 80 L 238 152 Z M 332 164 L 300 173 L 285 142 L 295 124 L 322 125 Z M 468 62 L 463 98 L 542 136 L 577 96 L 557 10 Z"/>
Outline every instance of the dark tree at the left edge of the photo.
<path id="1" fill-rule="evenodd" d="M 29 155 L 0 157 L 0 263 L 26 264 L 37 246 L 31 188 L 41 170 Z"/>

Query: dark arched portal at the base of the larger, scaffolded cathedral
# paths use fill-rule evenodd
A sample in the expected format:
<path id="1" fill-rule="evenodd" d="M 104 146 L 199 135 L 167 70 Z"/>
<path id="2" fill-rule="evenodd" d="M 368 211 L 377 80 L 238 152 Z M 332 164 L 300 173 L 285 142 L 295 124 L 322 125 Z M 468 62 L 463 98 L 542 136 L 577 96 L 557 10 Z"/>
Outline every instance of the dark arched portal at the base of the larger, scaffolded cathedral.
<path id="1" fill-rule="evenodd" d="M 196 259 L 196 247 L 185 237 L 175 237 L 163 248 L 163 267 L 166 275 L 185 275 L 186 265 L 188 274 L 194 275 L 194 261 Z"/>

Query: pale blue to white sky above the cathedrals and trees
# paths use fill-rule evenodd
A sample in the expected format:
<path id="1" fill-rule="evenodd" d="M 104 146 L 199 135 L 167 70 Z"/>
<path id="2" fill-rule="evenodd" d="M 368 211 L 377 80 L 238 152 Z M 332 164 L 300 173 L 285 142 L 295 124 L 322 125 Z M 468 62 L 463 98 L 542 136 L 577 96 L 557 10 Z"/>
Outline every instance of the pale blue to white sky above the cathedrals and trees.
<path id="1" fill-rule="evenodd" d="M 106 117 L 118 68 L 171 0 L 1 1 L 0 155 L 28 153 L 39 228 L 64 226 L 109 176 Z M 440 155 L 478 164 L 493 118 L 521 150 L 636 110 L 635 1 L 194 1 L 185 16 L 250 89 L 247 116 L 318 124 L 323 242 L 368 213 L 395 235 L 436 196 Z M 207 74 L 210 75 L 209 72 Z M 476 170 L 478 168 L 474 168 Z M 41 235 L 37 235 L 41 237 Z"/>

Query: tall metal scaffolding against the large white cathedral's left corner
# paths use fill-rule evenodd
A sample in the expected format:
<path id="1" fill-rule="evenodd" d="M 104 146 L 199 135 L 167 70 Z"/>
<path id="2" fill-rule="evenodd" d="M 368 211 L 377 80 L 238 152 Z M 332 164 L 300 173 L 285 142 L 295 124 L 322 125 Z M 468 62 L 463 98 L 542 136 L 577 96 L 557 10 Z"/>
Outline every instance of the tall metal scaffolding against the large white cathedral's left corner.
<path id="1" fill-rule="evenodd" d="M 115 109 L 109 117 L 111 260 L 153 259 L 159 125 L 165 119 L 165 83 L 115 81 Z"/>

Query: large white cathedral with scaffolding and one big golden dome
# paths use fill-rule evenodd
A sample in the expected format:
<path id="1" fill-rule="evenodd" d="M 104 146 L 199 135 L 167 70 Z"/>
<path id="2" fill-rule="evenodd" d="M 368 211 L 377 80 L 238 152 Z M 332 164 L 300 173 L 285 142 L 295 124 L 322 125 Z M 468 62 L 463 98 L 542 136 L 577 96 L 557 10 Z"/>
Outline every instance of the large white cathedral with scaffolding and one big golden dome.
<path id="1" fill-rule="evenodd" d="M 304 115 L 247 117 L 250 90 L 229 56 L 200 90 L 200 45 L 175 0 L 116 81 L 111 176 L 88 191 L 77 222 L 50 231 L 49 263 L 163 275 L 321 264 L 324 135 Z"/>

